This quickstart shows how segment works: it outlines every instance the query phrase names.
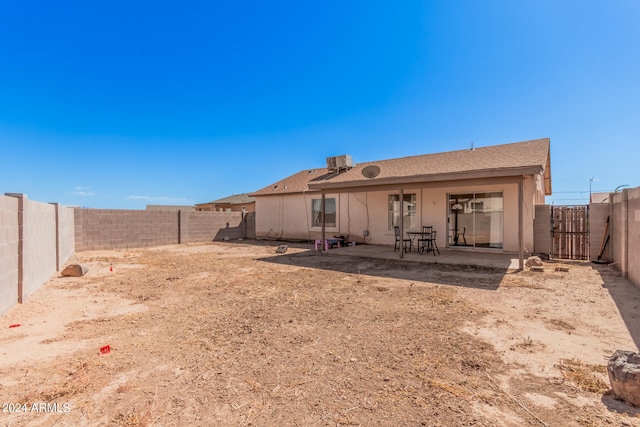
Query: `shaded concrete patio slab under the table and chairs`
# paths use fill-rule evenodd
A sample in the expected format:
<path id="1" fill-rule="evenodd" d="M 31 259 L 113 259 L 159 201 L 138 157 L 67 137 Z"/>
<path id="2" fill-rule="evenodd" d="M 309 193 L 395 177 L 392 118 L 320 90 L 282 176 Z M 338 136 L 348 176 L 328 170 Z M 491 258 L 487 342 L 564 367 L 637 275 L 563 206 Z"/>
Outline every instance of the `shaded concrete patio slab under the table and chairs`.
<path id="1" fill-rule="evenodd" d="M 335 255 L 364 258 L 496 268 L 507 272 L 517 271 L 519 265 L 517 253 L 478 251 L 477 249 L 471 251 L 440 248 L 440 255 L 435 256 L 432 253 L 419 254 L 417 252 L 405 252 L 403 258 L 400 258 L 398 252 L 394 252 L 393 246 L 389 245 L 347 246 L 333 248 L 330 249 L 329 252 Z"/>

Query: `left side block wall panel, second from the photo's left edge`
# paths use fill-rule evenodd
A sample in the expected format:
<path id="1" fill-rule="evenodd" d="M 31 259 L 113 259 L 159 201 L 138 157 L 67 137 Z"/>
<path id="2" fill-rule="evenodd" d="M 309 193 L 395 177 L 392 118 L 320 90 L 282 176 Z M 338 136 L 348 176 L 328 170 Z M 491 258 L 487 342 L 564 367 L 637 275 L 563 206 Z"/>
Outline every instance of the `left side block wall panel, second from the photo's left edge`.
<path id="1" fill-rule="evenodd" d="M 23 302 L 56 271 L 55 206 L 23 198 Z"/>

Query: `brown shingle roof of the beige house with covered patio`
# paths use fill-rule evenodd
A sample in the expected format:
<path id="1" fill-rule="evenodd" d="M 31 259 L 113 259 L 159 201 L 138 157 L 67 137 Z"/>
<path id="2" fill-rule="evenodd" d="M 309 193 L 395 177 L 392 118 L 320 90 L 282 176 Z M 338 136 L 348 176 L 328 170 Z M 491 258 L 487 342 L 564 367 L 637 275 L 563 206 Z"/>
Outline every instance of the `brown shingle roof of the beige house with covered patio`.
<path id="1" fill-rule="evenodd" d="M 373 178 L 365 177 L 363 170 L 368 166 L 379 168 L 379 173 Z M 551 194 L 549 138 L 365 162 L 341 173 L 330 173 L 326 168 L 309 169 L 252 195 L 535 174 L 544 174 L 545 193 Z"/>

